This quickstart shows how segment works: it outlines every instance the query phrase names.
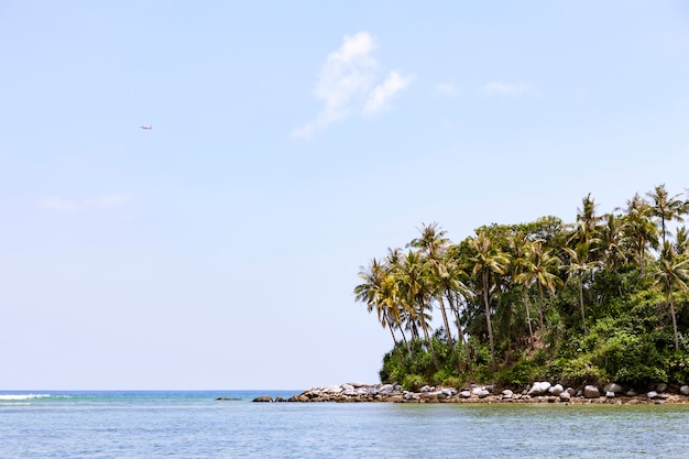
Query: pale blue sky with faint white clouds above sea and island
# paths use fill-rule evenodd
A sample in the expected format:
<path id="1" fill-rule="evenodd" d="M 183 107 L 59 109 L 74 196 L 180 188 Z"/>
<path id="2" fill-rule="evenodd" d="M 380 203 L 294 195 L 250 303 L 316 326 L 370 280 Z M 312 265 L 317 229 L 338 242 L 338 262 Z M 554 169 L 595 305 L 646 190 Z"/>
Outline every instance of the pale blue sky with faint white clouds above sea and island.
<path id="1" fill-rule="evenodd" d="M 423 223 L 689 187 L 679 0 L 0 0 L 0 55 L 4 390 L 375 383 Z"/>

